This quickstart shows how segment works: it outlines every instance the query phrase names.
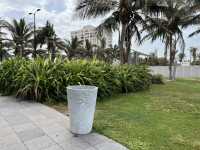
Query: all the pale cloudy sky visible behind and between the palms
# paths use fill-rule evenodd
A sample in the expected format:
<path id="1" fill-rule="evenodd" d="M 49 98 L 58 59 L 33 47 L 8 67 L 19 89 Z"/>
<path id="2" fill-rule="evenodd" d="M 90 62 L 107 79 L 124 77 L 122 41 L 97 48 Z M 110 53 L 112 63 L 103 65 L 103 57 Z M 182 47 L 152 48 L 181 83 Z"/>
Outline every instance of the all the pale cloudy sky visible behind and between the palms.
<path id="1" fill-rule="evenodd" d="M 27 22 L 33 22 L 33 16 L 29 13 L 40 8 L 41 11 L 36 15 L 37 26 L 43 26 L 47 20 L 54 24 L 58 36 L 64 39 L 70 39 L 70 32 L 79 30 L 85 25 L 97 26 L 105 17 L 81 20 L 75 12 L 77 0 L 0 0 L 0 18 L 12 20 L 25 18 Z M 200 48 L 200 35 L 188 38 L 188 35 L 195 30 L 190 27 L 184 30 L 186 41 L 186 54 L 189 55 L 190 47 Z M 113 44 L 117 43 L 117 34 L 113 35 Z M 155 50 L 158 55 L 163 55 L 164 45 L 159 40 L 151 43 L 146 41 L 138 46 L 133 40 L 133 49 L 144 53 L 151 53 Z"/>

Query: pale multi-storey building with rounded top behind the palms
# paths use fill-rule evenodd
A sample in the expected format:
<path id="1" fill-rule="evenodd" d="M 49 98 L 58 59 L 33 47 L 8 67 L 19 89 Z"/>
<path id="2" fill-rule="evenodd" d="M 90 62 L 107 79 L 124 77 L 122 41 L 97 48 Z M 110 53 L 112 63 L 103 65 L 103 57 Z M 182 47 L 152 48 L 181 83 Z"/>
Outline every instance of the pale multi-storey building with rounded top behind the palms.
<path id="1" fill-rule="evenodd" d="M 71 32 L 71 37 L 77 37 L 79 41 L 82 41 L 83 46 L 86 45 L 86 40 L 88 40 L 92 45 L 101 46 L 101 39 L 105 39 L 106 48 L 112 46 L 112 33 L 105 32 L 102 37 L 97 36 L 97 30 L 94 26 L 85 26 L 83 29 Z"/>

